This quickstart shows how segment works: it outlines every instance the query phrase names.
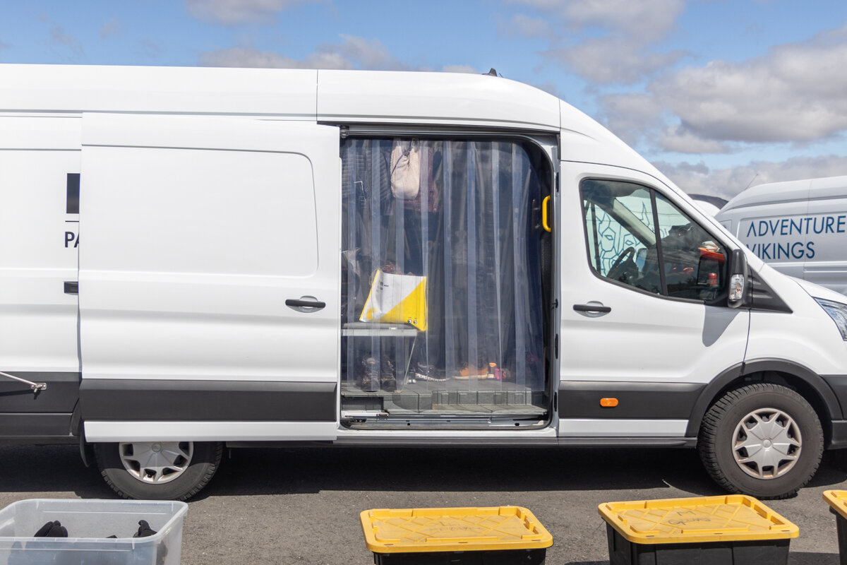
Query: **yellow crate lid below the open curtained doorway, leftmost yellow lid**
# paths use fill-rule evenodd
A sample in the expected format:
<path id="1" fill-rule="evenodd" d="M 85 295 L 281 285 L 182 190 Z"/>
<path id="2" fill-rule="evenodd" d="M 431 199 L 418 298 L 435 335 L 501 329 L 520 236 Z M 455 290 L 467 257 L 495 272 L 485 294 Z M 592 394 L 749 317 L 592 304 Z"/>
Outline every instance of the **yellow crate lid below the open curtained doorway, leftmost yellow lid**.
<path id="1" fill-rule="evenodd" d="M 523 507 L 365 510 L 362 529 L 370 551 L 501 551 L 541 549 L 553 536 Z"/>

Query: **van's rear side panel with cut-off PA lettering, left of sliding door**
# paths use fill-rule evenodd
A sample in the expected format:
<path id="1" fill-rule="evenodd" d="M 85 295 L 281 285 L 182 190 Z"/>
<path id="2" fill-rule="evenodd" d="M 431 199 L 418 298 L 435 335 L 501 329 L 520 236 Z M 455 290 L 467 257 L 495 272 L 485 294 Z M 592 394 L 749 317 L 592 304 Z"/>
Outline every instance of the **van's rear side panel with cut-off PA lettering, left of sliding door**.
<path id="1" fill-rule="evenodd" d="M 0 116 L 0 438 L 68 436 L 80 385 L 80 119 Z"/>

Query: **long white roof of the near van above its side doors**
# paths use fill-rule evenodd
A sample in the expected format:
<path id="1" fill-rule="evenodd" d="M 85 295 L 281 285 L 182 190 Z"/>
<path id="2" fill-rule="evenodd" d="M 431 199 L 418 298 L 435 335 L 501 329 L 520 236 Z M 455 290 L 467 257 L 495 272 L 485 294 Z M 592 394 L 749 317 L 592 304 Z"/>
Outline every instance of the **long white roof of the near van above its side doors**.
<path id="1" fill-rule="evenodd" d="M 561 124 L 558 98 L 514 80 L 315 69 L 0 64 L 0 112 L 242 114 L 548 131 Z"/>

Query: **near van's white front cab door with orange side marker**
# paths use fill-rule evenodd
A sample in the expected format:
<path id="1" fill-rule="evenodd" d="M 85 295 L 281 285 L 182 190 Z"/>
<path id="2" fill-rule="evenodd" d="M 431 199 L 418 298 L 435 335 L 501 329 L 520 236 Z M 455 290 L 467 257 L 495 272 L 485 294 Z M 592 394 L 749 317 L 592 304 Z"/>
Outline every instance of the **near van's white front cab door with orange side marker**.
<path id="1" fill-rule="evenodd" d="M 592 254 L 617 261 L 639 241 L 611 215 L 583 204 L 581 190 L 591 181 L 652 188 L 722 242 L 693 204 L 671 200 L 673 191 L 649 175 L 562 161 L 559 435 L 684 438 L 700 391 L 728 365 L 744 361 L 750 313 L 598 275 Z M 603 406 L 609 397 L 619 403 Z"/>

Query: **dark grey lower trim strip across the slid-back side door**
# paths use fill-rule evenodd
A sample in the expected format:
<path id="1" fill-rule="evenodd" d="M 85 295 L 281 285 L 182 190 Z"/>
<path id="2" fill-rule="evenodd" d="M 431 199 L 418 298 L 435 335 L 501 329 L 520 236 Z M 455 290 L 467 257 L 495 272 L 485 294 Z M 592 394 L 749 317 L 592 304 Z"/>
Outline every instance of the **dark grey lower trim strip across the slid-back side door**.
<path id="1" fill-rule="evenodd" d="M 83 379 L 84 421 L 335 422 L 335 383 Z"/>

